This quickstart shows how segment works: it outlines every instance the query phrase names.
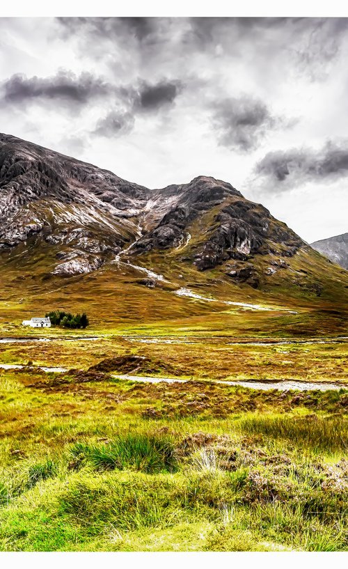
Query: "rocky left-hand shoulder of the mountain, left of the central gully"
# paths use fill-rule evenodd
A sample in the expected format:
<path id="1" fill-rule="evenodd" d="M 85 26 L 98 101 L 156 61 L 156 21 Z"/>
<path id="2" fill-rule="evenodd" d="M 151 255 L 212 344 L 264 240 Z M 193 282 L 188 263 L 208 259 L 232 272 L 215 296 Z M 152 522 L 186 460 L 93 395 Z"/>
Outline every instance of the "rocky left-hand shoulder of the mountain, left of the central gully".
<path id="1" fill-rule="evenodd" d="M 58 274 L 89 272 L 139 234 L 148 190 L 46 148 L 0 135 L 0 250 L 58 244 Z"/>

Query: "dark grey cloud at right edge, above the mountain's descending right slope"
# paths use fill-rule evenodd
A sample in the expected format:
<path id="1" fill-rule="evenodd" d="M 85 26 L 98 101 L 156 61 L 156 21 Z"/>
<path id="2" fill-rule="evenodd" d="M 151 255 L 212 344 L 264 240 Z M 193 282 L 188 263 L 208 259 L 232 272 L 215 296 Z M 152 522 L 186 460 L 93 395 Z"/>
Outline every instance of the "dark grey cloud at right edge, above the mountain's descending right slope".
<path id="1" fill-rule="evenodd" d="M 348 176 L 348 140 L 329 141 L 317 152 L 311 148 L 270 152 L 254 171 L 262 187 L 275 193 L 315 180 L 333 182 Z"/>

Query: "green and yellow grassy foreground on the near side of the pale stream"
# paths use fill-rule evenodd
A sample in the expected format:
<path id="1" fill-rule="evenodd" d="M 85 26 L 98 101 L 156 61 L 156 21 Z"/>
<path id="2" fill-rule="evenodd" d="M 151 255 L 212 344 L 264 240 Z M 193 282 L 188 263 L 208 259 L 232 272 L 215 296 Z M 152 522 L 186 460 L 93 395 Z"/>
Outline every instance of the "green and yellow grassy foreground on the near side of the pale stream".
<path id="1" fill-rule="evenodd" d="M 1 375 L 1 550 L 347 550 L 345 391 L 45 378 Z"/>

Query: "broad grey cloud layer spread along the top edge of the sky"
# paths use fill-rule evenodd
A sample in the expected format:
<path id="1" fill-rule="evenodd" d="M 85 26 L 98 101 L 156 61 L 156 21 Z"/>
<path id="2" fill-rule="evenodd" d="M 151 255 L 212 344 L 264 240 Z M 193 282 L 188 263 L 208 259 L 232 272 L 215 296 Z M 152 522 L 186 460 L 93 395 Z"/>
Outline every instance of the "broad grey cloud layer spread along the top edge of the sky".
<path id="1" fill-rule="evenodd" d="M 215 58 L 219 47 L 236 58 L 253 52 L 266 75 L 276 54 L 281 67 L 296 63 L 297 72 L 313 80 L 326 77 L 348 30 L 347 18 L 319 17 L 61 17 L 56 22 L 58 36 L 78 38 L 81 52 L 95 59 L 103 57 L 101 46 L 108 43 L 111 67 L 119 61 L 115 45 L 154 68 L 158 62 L 168 67 L 189 61 L 193 54 Z"/>

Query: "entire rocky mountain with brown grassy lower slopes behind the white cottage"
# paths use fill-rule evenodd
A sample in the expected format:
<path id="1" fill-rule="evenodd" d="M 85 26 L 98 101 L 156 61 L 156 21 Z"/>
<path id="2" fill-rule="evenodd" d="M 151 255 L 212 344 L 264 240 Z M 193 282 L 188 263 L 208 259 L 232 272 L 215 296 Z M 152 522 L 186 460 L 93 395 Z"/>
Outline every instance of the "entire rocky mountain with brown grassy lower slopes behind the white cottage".
<path id="1" fill-rule="evenodd" d="M 58 307 L 213 322 L 254 302 L 341 322 L 347 276 L 228 182 L 148 189 L 0 134 L 0 325 Z"/>

